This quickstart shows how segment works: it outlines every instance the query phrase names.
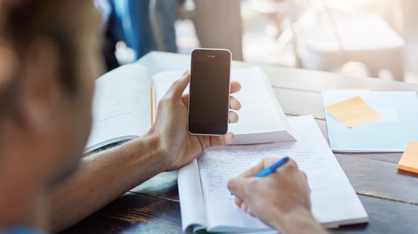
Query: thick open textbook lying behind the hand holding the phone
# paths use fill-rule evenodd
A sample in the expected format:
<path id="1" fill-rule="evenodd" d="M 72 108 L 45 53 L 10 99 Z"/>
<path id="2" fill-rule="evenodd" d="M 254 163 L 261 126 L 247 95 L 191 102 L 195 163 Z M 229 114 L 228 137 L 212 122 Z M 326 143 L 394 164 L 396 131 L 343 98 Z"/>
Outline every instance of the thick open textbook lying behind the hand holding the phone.
<path id="1" fill-rule="evenodd" d="M 184 71 L 149 76 L 145 66 L 128 64 L 96 80 L 93 126 L 85 152 L 144 135 L 152 126 L 156 105 Z M 258 67 L 231 70 L 242 89 L 233 94 L 242 104 L 239 122 L 229 124 L 232 144 L 294 141 L 291 128 L 267 76 Z M 185 90 L 188 92 L 188 89 Z"/>

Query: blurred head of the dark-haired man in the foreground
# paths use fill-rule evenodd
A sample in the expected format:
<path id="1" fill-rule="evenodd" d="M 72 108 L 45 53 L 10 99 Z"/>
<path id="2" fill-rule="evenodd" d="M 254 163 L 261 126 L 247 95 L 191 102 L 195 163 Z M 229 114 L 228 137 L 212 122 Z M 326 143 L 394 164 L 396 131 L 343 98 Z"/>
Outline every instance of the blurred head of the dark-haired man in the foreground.
<path id="1" fill-rule="evenodd" d="M 85 0 L 0 4 L 0 177 L 47 186 L 73 170 L 90 132 L 101 18 Z"/>

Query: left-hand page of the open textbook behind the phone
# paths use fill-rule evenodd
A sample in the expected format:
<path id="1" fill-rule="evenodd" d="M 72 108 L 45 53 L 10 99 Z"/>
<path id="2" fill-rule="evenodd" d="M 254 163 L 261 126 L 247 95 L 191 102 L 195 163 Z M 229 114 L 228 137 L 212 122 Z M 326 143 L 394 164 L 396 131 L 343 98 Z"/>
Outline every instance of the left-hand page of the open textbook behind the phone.
<path id="1" fill-rule="evenodd" d="M 124 65 L 99 77 L 85 152 L 144 135 L 151 127 L 150 90 L 147 69 L 138 64 Z"/>

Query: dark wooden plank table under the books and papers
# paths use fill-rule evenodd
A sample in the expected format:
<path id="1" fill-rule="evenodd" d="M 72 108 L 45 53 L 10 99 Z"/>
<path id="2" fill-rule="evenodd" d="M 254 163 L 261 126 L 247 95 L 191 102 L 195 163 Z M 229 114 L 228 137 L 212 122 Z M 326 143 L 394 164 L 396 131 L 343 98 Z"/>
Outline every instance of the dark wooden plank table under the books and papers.
<path id="1" fill-rule="evenodd" d="M 190 57 L 152 52 L 138 63 L 151 74 L 186 69 Z M 233 62 L 233 67 L 252 66 Z M 313 115 L 328 139 L 321 92 L 353 88 L 372 91 L 418 91 L 418 85 L 360 79 L 302 69 L 260 66 L 288 116 Z M 417 120 L 418 121 L 418 120 Z M 335 153 L 365 210 L 368 224 L 331 229 L 334 233 L 418 233 L 418 176 L 400 171 L 402 153 Z M 176 172 L 164 172 L 130 190 L 64 233 L 181 233 Z"/>

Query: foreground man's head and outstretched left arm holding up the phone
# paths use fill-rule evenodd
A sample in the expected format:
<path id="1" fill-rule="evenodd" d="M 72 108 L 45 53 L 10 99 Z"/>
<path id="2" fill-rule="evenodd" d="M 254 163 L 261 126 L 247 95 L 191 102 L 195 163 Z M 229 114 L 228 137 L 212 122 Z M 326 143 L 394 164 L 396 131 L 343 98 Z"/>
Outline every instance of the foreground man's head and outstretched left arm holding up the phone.
<path id="1" fill-rule="evenodd" d="M 93 1 L 0 0 L 0 233 L 62 230 L 234 139 L 188 133 L 186 71 L 146 135 L 80 159 L 103 69 L 101 21 Z M 240 109 L 234 97 L 230 108 Z"/>

